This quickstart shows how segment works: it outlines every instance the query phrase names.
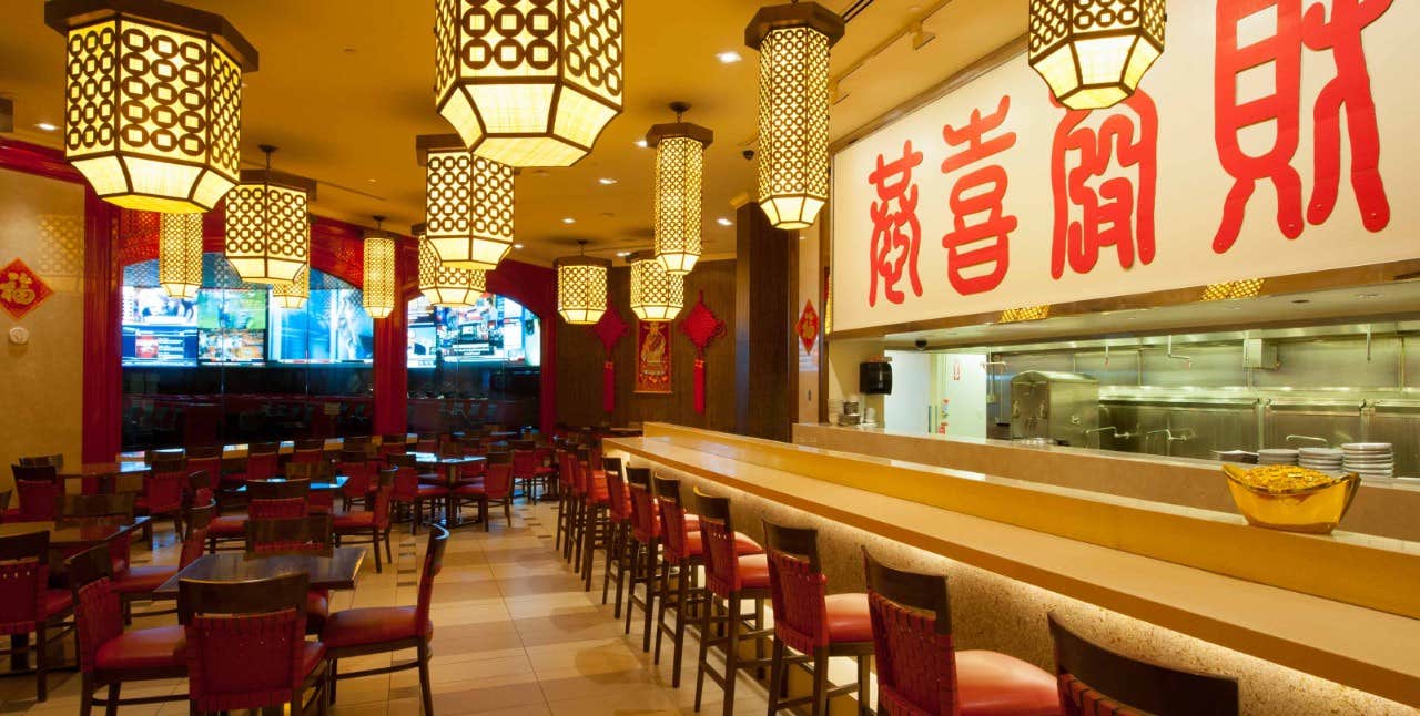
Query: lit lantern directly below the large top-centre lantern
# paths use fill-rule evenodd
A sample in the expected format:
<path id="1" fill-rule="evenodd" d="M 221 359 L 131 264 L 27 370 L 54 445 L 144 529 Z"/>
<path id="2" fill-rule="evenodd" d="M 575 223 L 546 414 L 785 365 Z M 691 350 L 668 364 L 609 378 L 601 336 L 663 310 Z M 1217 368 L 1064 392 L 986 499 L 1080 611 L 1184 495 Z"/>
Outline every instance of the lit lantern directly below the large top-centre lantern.
<path id="1" fill-rule="evenodd" d="M 470 153 L 457 135 L 420 136 L 415 147 L 425 167 L 426 237 L 439 261 L 493 271 L 513 248 L 513 167 Z"/>

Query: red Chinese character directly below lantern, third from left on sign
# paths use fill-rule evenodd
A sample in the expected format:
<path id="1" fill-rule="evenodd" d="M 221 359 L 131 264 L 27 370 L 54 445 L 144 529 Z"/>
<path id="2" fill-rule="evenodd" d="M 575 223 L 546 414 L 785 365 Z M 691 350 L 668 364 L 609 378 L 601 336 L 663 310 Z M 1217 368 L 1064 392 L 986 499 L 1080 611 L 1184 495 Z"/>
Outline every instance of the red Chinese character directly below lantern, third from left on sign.
<path id="1" fill-rule="evenodd" d="M 1098 129 L 1083 126 L 1091 116 L 1102 115 Z M 1072 157 L 1075 166 L 1066 167 Z M 1127 169 L 1136 170 L 1137 187 L 1123 172 Z M 1115 247 L 1122 268 L 1135 265 L 1136 252 L 1140 264 L 1150 264 L 1157 173 L 1159 112 L 1145 91 L 1136 91 L 1113 109 L 1068 112 L 1051 145 L 1055 196 L 1051 275 L 1065 274 L 1066 258 L 1072 271 L 1089 274 L 1103 247 Z M 1071 207 L 1079 207 L 1082 216 L 1072 218 Z"/>

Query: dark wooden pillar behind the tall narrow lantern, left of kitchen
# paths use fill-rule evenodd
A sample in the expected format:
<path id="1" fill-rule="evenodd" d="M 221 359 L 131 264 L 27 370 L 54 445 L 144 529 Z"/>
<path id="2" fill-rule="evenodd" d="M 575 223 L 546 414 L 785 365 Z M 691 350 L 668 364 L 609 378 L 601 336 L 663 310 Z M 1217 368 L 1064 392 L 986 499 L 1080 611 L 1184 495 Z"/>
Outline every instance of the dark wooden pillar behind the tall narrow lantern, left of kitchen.
<path id="1" fill-rule="evenodd" d="M 791 438 L 794 302 L 798 298 L 798 233 L 770 225 L 758 204 L 736 213 L 734 430 Z"/>

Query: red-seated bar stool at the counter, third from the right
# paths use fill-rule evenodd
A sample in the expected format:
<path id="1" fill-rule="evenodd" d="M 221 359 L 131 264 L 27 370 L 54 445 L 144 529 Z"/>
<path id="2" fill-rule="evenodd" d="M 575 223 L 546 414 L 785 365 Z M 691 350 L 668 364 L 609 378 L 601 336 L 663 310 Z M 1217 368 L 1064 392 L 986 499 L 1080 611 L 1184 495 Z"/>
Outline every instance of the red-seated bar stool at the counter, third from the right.
<path id="1" fill-rule="evenodd" d="M 774 605 L 774 649 L 770 661 L 770 713 L 812 705 L 812 713 L 826 715 L 828 702 L 839 693 L 858 690 L 859 712 L 868 709 L 869 658 L 873 655 L 873 625 L 868 594 L 828 594 L 828 577 L 818 560 L 818 530 L 764 522 L 765 552 L 770 557 L 770 597 Z M 788 656 L 787 649 L 799 655 Z M 828 688 L 829 656 L 858 661 L 858 682 Z M 814 692 L 780 700 L 778 685 L 788 678 L 790 664 L 812 662 Z"/>

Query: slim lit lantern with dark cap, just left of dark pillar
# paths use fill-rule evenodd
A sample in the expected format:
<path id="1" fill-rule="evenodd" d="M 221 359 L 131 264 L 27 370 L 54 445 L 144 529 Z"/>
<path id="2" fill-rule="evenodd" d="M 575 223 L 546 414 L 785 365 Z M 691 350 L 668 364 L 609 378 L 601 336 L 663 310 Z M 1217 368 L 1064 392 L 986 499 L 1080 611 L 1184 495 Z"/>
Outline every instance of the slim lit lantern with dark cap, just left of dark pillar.
<path id="1" fill-rule="evenodd" d="M 672 104 L 676 122 L 646 133 L 646 146 L 656 147 L 656 259 L 672 274 L 689 274 L 700 259 L 704 155 L 714 142 L 714 132 L 680 122 L 689 108 Z"/>

